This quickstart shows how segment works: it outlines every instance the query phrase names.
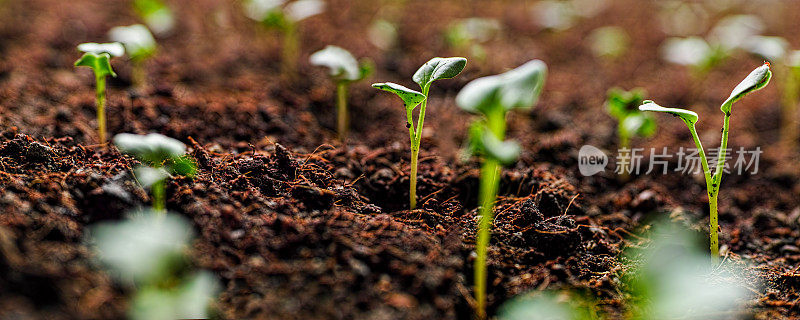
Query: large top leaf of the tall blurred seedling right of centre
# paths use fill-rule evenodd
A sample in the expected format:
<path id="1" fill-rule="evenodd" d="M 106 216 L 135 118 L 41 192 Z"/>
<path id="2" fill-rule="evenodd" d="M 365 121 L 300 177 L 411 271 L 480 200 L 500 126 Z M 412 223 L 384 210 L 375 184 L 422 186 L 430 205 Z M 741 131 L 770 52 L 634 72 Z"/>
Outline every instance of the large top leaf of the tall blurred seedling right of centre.
<path id="1" fill-rule="evenodd" d="M 458 93 L 456 104 L 484 114 L 497 107 L 506 111 L 530 108 L 539 98 L 546 75 L 544 62 L 531 60 L 506 73 L 473 80 Z"/>

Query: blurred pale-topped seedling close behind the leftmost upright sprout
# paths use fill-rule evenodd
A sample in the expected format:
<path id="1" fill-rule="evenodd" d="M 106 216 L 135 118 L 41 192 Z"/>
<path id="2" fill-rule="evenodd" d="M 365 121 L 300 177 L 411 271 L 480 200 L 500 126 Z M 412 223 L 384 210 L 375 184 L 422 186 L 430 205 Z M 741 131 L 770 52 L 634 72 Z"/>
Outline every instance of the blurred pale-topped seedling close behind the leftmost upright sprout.
<path id="1" fill-rule="evenodd" d="M 133 62 L 132 77 L 134 88 L 143 88 L 147 75 L 144 63 L 156 53 L 156 40 L 150 30 L 142 24 L 127 27 L 114 27 L 108 31 L 111 41 L 122 43 L 125 52 Z"/>

